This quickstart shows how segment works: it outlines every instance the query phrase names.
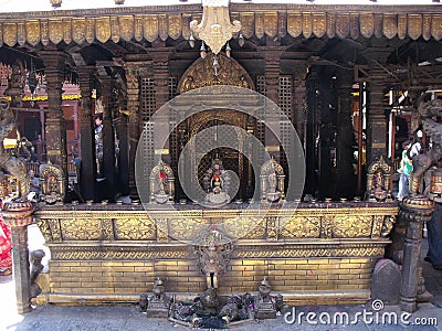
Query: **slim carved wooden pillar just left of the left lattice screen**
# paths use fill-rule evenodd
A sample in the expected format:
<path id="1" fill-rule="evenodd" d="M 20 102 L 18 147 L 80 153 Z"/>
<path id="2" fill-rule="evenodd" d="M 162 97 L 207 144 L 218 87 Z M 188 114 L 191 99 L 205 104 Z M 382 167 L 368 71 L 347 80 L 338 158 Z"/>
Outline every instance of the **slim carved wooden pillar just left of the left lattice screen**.
<path id="1" fill-rule="evenodd" d="M 126 62 L 124 64 L 127 79 L 127 111 L 128 116 L 128 137 L 129 137 L 129 190 L 130 195 L 137 197 L 135 182 L 135 156 L 139 139 L 139 64 L 137 62 Z"/>

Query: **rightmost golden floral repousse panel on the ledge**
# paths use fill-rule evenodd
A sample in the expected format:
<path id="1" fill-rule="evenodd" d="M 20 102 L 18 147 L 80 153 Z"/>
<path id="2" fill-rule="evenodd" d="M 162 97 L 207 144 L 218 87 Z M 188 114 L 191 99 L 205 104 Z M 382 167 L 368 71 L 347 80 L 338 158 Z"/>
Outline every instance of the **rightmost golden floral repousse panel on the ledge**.
<path id="1" fill-rule="evenodd" d="M 335 238 L 369 237 L 372 216 L 336 215 L 332 221 L 332 233 Z"/>

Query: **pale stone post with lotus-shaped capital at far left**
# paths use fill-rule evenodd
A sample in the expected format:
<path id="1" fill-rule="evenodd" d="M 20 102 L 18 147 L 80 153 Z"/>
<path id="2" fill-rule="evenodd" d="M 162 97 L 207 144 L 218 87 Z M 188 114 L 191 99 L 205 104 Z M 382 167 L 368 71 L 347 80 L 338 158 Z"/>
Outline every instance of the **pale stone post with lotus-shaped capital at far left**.
<path id="1" fill-rule="evenodd" d="M 12 233 L 13 278 L 19 313 L 32 310 L 27 231 L 27 226 L 32 223 L 32 212 L 30 202 L 9 202 L 3 205 L 2 211 L 3 222 L 11 227 Z"/>

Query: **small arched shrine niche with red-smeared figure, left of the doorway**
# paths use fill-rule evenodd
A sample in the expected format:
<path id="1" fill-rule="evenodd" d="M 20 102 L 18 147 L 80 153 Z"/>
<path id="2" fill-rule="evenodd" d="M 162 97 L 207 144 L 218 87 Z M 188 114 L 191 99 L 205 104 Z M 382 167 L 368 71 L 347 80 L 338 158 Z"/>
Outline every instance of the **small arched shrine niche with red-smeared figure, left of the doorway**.
<path id="1" fill-rule="evenodd" d="M 175 177 L 172 169 L 162 160 L 150 172 L 150 202 L 166 203 L 173 201 Z"/>

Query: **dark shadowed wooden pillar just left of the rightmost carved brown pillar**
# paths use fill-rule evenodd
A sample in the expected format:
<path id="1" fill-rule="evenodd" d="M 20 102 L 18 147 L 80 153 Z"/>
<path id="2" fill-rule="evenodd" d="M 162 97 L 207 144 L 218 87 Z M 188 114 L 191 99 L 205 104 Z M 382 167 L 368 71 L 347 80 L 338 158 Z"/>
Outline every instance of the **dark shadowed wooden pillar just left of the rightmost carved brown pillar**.
<path id="1" fill-rule="evenodd" d="M 337 166 L 337 195 L 351 199 L 356 192 L 356 177 L 352 153 L 352 125 L 351 125 L 351 92 L 352 72 L 339 72 L 337 74 L 338 93 L 338 136 L 336 143 Z"/>

